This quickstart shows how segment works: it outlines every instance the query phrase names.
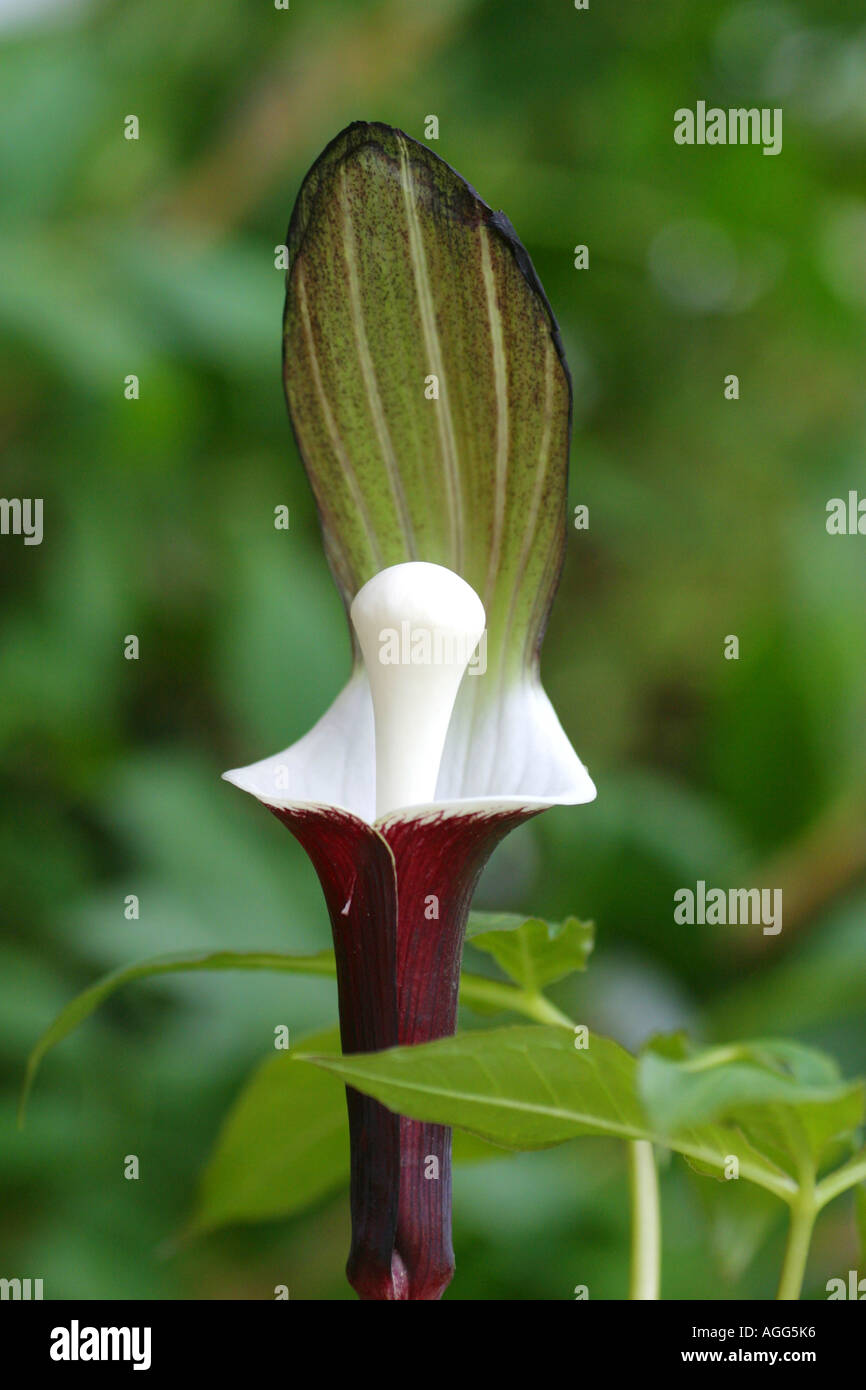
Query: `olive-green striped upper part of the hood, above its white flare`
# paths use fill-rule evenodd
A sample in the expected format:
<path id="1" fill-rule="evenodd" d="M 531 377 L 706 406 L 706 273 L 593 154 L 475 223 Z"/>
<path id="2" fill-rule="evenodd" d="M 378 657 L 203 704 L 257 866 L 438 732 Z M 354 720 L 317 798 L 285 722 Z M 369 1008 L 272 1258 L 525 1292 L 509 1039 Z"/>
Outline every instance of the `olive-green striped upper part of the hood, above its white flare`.
<path id="1" fill-rule="evenodd" d="M 356 122 L 309 171 L 288 246 L 286 399 L 343 598 L 389 564 L 445 564 L 484 602 L 488 677 L 506 651 L 528 667 L 571 386 L 514 229 L 430 149 Z"/>

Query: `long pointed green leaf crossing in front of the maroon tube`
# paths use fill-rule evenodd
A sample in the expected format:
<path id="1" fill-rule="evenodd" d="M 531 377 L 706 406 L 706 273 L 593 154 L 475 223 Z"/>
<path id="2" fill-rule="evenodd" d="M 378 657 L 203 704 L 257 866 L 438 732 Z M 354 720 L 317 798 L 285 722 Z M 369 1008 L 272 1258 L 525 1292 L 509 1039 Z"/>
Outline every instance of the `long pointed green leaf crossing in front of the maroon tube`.
<path id="1" fill-rule="evenodd" d="M 400 1115 L 455 1125 L 507 1148 L 546 1148 L 581 1134 L 646 1138 L 714 1177 L 735 1154 L 742 1177 L 785 1200 L 796 1191 L 792 1179 L 733 1127 L 656 1133 L 638 1099 L 634 1058 L 598 1034 L 587 1048 L 575 1048 L 562 1027 L 491 1029 L 386 1052 L 297 1059 L 335 1072 Z"/>

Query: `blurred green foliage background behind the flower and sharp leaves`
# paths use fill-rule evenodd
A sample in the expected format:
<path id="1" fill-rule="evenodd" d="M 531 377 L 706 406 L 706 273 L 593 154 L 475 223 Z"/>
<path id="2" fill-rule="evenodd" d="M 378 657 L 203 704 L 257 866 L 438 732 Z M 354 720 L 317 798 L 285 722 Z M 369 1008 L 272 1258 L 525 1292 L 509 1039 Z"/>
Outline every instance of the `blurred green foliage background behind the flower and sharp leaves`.
<path id="1" fill-rule="evenodd" d="M 595 919 L 557 997 L 628 1045 L 783 1034 L 862 1072 L 866 538 L 824 527 L 866 492 L 856 7 L 3 0 L 0 44 L 3 492 L 44 499 L 42 546 L 0 541 L 0 1273 L 46 1297 L 352 1297 L 343 1193 L 177 1240 L 274 1022 L 331 1023 L 329 981 L 133 986 L 50 1055 L 24 1133 L 14 1106 L 35 1038 L 101 972 L 328 944 L 303 852 L 220 771 L 304 733 L 348 671 L 274 247 L 356 118 L 423 138 L 439 117 L 436 152 L 525 240 L 575 382 L 591 524 L 544 677 L 599 796 L 513 835 L 480 903 Z M 698 99 L 781 106 L 783 153 L 676 146 Z M 781 935 L 677 927 L 698 878 L 783 887 Z M 663 1201 L 667 1297 L 773 1293 L 771 1200 L 731 1215 L 677 1161 Z M 449 1297 L 624 1295 L 617 1145 L 463 1168 L 455 1205 Z M 806 1294 L 856 1261 L 842 1200 Z"/>

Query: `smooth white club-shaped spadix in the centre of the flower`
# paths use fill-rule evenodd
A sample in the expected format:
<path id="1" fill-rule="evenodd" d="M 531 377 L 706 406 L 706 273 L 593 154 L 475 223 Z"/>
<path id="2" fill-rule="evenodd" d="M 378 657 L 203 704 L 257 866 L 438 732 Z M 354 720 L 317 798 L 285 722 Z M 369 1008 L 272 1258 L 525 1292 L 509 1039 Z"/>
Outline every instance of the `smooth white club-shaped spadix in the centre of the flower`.
<path id="1" fill-rule="evenodd" d="M 352 623 L 375 719 L 375 815 L 435 798 L 460 681 L 485 626 L 473 587 L 442 564 L 379 570 L 354 595 Z"/>

